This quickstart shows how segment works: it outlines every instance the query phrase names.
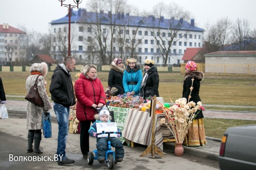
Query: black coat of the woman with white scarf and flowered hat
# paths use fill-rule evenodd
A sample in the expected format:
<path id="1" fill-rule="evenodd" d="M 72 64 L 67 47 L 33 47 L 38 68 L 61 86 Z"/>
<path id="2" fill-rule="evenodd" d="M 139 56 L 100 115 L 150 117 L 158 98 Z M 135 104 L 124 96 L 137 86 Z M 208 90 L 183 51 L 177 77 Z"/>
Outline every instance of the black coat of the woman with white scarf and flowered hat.
<path id="1" fill-rule="evenodd" d="M 150 69 L 144 73 L 143 77 L 145 74 L 148 73 L 148 78 L 146 80 L 146 86 L 140 87 L 139 95 L 143 96 L 145 99 L 146 97 L 151 97 L 156 95 L 159 97 L 159 92 L 158 92 L 158 86 L 159 86 L 159 75 L 157 73 L 157 68 L 155 66 L 150 67 Z"/>

